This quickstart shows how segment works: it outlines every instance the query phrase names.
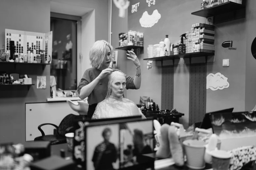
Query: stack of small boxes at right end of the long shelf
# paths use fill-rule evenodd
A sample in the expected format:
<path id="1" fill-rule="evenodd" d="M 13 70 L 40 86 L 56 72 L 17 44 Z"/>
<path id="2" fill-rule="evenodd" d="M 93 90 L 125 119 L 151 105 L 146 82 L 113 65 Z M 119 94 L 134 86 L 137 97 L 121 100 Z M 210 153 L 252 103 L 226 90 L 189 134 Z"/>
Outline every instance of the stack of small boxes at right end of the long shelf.
<path id="1" fill-rule="evenodd" d="M 200 43 L 200 50 L 196 50 L 195 44 Z M 196 23 L 192 25 L 191 31 L 186 32 L 184 39 L 186 53 L 208 52 L 214 53 L 214 25 Z"/>

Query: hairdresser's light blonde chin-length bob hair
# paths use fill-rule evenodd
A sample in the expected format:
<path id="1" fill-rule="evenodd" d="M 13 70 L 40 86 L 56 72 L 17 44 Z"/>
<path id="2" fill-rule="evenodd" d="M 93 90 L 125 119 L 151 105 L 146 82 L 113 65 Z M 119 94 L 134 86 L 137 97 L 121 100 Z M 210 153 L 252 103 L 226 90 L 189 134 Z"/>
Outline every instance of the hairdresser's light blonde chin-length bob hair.
<path id="1" fill-rule="evenodd" d="M 99 69 L 106 56 L 106 46 L 110 48 L 111 54 L 113 47 L 105 40 L 96 41 L 90 49 L 89 59 L 92 67 Z"/>

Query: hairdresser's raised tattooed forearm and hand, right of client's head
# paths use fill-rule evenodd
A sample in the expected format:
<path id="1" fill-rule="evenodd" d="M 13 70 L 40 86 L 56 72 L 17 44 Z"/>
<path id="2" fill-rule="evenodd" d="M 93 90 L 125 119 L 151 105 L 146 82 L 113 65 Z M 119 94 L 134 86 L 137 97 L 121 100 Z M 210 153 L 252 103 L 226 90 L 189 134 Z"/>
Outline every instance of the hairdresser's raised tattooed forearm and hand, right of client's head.
<path id="1" fill-rule="evenodd" d="M 130 53 L 130 54 L 127 54 L 129 56 L 127 58 L 129 60 L 131 60 L 136 66 L 136 74 L 135 74 L 133 83 L 134 83 L 136 89 L 140 89 L 140 87 L 141 87 L 141 64 L 140 64 L 138 57 L 136 56 L 136 54 L 133 51 L 128 51 L 128 53 Z"/>

